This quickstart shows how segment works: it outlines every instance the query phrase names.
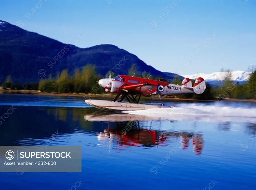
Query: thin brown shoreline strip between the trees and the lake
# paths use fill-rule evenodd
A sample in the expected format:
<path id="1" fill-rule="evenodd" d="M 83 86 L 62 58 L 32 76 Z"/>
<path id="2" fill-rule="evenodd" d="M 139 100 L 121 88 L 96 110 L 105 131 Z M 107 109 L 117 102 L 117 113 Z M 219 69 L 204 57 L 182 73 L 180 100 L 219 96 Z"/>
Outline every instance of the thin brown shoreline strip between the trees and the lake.
<path id="1" fill-rule="evenodd" d="M 41 92 L 38 90 L 2 90 L 0 89 L 0 95 L 35 95 L 35 96 L 66 96 L 66 97 L 95 97 L 95 98 L 114 98 L 115 94 L 92 94 L 92 93 L 57 93 L 57 92 Z M 159 100 L 158 97 L 152 97 L 153 100 Z M 148 97 L 142 97 L 142 99 L 150 99 Z M 163 100 L 175 100 L 175 101 L 218 101 L 214 100 L 197 100 L 192 98 L 170 98 L 163 97 Z M 256 102 L 256 99 L 230 99 L 226 98 L 223 101 L 233 101 L 233 102 Z"/>

